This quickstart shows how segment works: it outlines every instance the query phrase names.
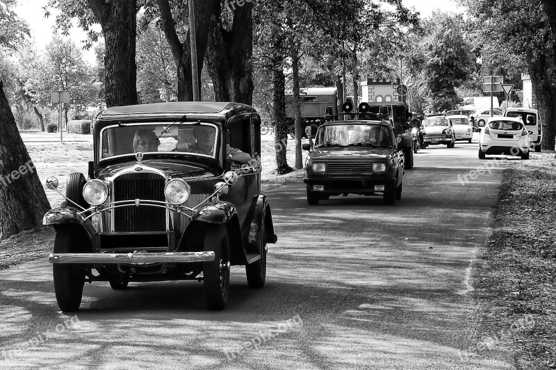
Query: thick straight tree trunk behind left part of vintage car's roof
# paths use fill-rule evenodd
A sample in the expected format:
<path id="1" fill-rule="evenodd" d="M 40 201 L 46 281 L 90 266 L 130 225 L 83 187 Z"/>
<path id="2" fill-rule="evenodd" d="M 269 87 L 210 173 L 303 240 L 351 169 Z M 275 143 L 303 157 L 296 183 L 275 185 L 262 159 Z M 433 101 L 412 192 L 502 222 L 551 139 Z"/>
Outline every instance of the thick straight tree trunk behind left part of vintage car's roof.
<path id="1" fill-rule="evenodd" d="M 101 24 L 106 45 L 106 107 L 137 104 L 137 1 L 87 1 Z"/>

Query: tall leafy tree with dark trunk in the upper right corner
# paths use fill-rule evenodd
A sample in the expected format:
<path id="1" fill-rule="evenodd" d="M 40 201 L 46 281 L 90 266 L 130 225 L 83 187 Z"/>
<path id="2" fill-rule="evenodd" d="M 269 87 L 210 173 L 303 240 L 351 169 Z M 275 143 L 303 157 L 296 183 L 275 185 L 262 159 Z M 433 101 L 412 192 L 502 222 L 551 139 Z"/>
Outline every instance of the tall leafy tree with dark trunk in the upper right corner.
<path id="1" fill-rule="evenodd" d="M 542 148 L 555 148 L 556 134 L 556 57 L 554 49 L 553 6 L 532 0 L 459 0 L 476 19 L 477 34 L 484 47 L 482 58 L 497 60 L 510 74 L 525 67 L 543 127 Z M 548 2 L 548 1 L 547 1 Z M 534 19 L 534 21 L 532 21 Z"/>

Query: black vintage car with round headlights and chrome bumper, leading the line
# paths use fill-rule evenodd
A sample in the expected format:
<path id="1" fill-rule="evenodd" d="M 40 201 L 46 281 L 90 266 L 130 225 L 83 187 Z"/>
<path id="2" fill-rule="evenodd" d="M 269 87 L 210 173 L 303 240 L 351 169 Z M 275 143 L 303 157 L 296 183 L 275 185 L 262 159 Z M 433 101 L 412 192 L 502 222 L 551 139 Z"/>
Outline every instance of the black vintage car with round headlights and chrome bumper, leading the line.
<path id="1" fill-rule="evenodd" d="M 130 281 L 199 280 L 208 308 L 222 310 L 231 265 L 245 265 L 247 284 L 263 287 L 267 243 L 277 237 L 261 194 L 260 126 L 256 110 L 238 103 L 98 115 L 88 180 L 71 174 L 67 201 L 44 216 L 56 229 L 49 260 L 60 309 L 78 310 L 92 281 L 124 289 Z"/>

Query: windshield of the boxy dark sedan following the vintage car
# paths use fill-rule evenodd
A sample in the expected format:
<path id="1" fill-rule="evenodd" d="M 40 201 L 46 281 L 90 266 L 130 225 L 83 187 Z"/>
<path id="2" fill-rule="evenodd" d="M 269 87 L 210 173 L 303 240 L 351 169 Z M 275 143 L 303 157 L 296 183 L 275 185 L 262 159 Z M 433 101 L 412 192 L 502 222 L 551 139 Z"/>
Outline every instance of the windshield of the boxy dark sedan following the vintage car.
<path id="1" fill-rule="evenodd" d="M 379 124 L 322 126 L 315 137 L 315 148 L 327 146 L 393 146 L 391 130 Z"/>

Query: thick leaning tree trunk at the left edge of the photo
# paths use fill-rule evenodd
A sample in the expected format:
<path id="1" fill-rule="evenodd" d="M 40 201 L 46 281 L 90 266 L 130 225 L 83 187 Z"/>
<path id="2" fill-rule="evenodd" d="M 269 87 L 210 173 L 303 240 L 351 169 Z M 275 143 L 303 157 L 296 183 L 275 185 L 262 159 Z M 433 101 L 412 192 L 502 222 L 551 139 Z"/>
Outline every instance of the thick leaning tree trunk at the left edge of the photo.
<path id="1" fill-rule="evenodd" d="M 0 239 L 42 225 L 50 209 L 0 81 Z"/>

